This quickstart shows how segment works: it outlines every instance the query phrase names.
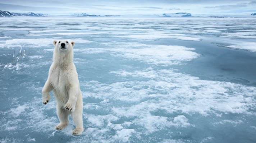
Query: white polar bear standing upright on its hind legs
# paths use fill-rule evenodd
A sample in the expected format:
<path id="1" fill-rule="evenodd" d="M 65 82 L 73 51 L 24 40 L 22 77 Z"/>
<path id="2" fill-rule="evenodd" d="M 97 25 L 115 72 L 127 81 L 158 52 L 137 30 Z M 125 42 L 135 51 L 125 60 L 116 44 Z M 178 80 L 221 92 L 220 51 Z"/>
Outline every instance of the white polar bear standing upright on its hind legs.
<path id="1" fill-rule="evenodd" d="M 79 87 L 76 66 L 73 63 L 74 42 L 67 40 L 53 41 L 55 46 L 53 62 L 49 69 L 48 79 L 42 89 L 42 102 L 50 101 L 51 90 L 57 101 L 57 115 L 60 123 L 55 127 L 62 130 L 69 124 L 68 115 L 71 114 L 76 125 L 73 135 L 83 132 L 83 98 Z"/>

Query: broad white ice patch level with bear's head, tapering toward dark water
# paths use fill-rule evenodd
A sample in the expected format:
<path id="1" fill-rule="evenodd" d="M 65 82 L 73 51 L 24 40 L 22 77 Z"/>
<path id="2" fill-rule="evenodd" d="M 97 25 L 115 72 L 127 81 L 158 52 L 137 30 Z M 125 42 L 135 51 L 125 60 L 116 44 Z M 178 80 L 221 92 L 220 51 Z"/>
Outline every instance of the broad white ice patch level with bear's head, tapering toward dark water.
<path id="1" fill-rule="evenodd" d="M 83 52 L 85 54 L 110 52 L 113 56 L 121 56 L 163 66 L 181 64 L 182 61 L 189 61 L 200 56 L 200 54 L 192 51 L 194 48 L 187 48 L 185 46 L 150 45 L 133 42 L 113 42 L 106 45 L 110 47 L 74 49 L 74 51 Z"/>

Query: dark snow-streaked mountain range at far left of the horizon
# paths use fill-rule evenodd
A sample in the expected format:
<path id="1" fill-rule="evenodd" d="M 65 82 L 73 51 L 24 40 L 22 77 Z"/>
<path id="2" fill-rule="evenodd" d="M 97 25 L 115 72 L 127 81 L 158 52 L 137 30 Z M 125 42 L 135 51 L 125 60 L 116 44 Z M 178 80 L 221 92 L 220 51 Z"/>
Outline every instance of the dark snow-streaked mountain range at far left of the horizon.
<path id="1" fill-rule="evenodd" d="M 13 17 L 13 16 L 45 17 L 45 16 L 49 16 L 49 15 L 41 14 L 41 13 L 10 13 L 9 11 L 2 11 L 2 10 L 0 10 L 0 17 Z"/>

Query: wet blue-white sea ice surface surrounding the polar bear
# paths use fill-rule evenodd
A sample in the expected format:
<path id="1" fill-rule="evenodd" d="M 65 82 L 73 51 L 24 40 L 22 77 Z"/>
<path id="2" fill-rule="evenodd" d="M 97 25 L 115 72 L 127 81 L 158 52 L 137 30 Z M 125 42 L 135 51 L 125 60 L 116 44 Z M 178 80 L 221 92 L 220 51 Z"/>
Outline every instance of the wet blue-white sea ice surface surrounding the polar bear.
<path id="1" fill-rule="evenodd" d="M 255 22 L 2 18 L 1 142 L 254 143 Z M 76 42 L 79 137 L 41 103 L 54 39 Z"/>

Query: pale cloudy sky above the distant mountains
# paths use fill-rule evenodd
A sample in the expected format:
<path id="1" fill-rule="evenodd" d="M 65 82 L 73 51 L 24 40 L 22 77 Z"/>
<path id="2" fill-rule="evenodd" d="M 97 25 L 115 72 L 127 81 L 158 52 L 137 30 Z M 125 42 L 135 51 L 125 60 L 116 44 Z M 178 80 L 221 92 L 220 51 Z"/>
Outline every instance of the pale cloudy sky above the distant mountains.
<path id="1" fill-rule="evenodd" d="M 256 0 L 0 0 L 0 10 L 70 15 L 192 14 L 247 15 L 256 13 Z"/>

